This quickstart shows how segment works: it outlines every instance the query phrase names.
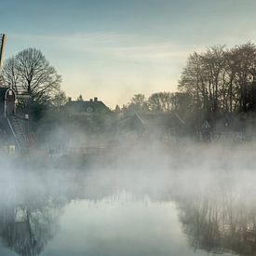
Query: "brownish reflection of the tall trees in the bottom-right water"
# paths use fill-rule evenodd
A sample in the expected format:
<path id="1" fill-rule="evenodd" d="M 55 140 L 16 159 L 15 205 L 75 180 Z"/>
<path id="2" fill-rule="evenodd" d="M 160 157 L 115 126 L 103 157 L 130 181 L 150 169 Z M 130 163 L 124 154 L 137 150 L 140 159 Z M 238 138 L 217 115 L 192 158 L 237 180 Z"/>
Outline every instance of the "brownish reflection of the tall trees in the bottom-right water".
<path id="1" fill-rule="evenodd" d="M 215 253 L 255 255 L 256 206 L 251 199 L 224 191 L 180 198 L 180 220 L 190 245 Z"/>

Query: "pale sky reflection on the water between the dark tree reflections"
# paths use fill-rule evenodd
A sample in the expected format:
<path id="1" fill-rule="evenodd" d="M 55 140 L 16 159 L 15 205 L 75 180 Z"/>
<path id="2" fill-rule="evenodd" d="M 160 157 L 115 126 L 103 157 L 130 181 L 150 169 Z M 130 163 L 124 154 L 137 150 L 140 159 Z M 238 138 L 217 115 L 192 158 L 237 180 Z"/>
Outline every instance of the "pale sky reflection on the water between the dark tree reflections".
<path id="1" fill-rule="evenodd" d="M 123 191 L 97 201 L 74 200 L 64 209 L 61 233 L 43 255 L 195 255 L 186 246 L 173 202 Z"/>

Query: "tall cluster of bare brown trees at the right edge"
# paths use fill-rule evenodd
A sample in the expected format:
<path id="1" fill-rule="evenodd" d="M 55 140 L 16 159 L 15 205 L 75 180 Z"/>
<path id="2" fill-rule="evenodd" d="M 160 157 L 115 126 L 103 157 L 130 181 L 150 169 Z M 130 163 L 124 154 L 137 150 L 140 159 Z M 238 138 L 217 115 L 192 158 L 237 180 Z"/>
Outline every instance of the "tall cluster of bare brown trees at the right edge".
<path id="1" fill-rule="evenodd" d="M 192 97 L 190 107 L 207 113 L 255 110 L 256 47 L 209 47 L 194 52 L 182 71 L 179 89 Z"/>

